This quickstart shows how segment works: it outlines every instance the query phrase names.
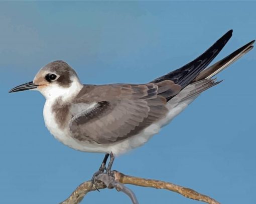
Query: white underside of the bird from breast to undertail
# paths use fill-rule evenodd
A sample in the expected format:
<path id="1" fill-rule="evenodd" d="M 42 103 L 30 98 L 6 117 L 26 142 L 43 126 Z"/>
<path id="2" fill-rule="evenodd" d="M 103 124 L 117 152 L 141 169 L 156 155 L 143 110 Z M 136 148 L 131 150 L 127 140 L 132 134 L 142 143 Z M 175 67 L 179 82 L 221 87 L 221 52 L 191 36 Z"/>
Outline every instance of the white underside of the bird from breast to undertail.
<path id="1" fill-rule="evenodd" d="M 186 91 L 185 89 L 183 90 Z M 45 124 L 51 134 L 62 142 L 63 144 L 76 149 L 80 151 L 85 152 L 101 152 L 101 153 L 110 153 L 113 152 L 113 154 L 118 155 L 121 153 L 125 153 L 131 149 L 134 149 L 136 147 L 139 147 L 143 144 L 145 144 L 153 135 L 157 134 L 161 127 L 168 124 L 175 116 L 177 116 L 181 111 L 183 111 L 188 104 L 190 104 L 197 96 L 194 96 L 193 98 L 189 98 L 187 100 L 184 100 L 182 102 L 181 99 L 183 98 L 183 91 L 181 91 L 177 96 L 175 96 L 173 99 L 171 99 L 167 103 L 167 107 L 170 110 L 167 117 L 158 121 L 157 123 L 154 123 L 147 127 L 143 132 L 140 134 L 134 135 L 132 137 L 129 137 L 125 140 L 122 140 L 120 142 L 115 142 L 112 144 L 90 144 L 90 143 L 79 143 L 75 139 L 73 139 L 69 133 L 68 129 L 60 129 L 58 128 L 58 125 L 53 117 L 53 114 L 51 112 L 51 106 L 52 101 L 47 100 L 44 106 L 44 119 Z M 89 107 L 88 107 L 89 108 Z"/>

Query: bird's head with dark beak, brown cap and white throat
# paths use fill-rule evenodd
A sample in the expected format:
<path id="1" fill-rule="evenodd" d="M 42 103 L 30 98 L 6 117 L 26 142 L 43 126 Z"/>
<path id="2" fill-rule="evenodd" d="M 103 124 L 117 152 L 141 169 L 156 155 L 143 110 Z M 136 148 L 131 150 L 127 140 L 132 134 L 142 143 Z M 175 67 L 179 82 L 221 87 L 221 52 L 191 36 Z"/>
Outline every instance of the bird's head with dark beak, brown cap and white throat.
<path id="1" fill-rule="evenodd" d="M 44 66 L 32 82 L 22 84 L 9 92 L 37 90 L 46 99 L 67 98 L 82 88 L 76 72 L 64 61 L 54 61 Z"/>

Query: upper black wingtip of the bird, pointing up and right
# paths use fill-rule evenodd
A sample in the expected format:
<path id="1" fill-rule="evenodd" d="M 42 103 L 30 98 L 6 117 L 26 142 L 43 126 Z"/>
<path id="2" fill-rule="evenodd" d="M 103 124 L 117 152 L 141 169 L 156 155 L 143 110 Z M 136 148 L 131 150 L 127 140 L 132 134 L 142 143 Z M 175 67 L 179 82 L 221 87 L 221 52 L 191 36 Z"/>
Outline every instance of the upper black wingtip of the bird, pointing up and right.
<path id="1" fill-rule="evenodd" d="M 182 88 L 186 87 L 218 55 L 218 53 L 226 45 L 227 41 L 231 38 L 232 32 L 232 30 L 228 31 L 207 51 L 205 51 L 202 55 L 200 55 L 192 62 L 162 77 L 155 79 L 154 81 L 152 81 L 152 83 L 158 83 L 164 80 L 172 80 L 175 84 L 179 84 Z"/>

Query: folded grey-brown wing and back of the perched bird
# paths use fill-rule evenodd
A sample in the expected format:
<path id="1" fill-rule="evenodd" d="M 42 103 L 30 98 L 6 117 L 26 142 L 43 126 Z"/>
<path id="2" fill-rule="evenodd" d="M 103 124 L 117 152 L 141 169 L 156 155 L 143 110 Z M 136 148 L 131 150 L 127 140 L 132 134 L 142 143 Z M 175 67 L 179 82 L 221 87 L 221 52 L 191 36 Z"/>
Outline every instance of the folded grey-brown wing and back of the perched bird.
<path id="1" fill-rule="evenodd" d="M 181 86 L 166 80 L 157 84 L 85 86 L 73 102 L 70 134 L 80 142 L 108 144 L 141 132 L 165 117 L 166 98 Z M 83 107 L 91 108 L 83 110 Z"/>

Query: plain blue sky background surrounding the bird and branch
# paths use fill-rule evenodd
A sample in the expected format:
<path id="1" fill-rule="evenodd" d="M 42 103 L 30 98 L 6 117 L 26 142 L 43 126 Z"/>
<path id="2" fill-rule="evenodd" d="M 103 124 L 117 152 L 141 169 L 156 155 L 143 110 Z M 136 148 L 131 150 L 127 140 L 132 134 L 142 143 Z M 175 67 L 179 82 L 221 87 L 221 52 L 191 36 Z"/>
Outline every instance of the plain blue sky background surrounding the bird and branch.
<path id="1" fill-rule="evenodd" d="M 0 194 L 2 203 L 58 203 L 91 178 L 103 154 L 75 151 L 44 125 L 38 92 L 9 94 L 54 60 L 83 83 L 144 83 L 179 68 L 229 29 L 221 59 L 256 38 L 255 2 L 1 2 Z M 255 75 L 252 50 L 146 145 L 113 168 L 171 181 L 222 203 L 255 203 Z M 130 186 L 140 203 L 199 203 Z M 130 203 L 115 190 L 82 203 Z"/>

